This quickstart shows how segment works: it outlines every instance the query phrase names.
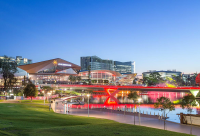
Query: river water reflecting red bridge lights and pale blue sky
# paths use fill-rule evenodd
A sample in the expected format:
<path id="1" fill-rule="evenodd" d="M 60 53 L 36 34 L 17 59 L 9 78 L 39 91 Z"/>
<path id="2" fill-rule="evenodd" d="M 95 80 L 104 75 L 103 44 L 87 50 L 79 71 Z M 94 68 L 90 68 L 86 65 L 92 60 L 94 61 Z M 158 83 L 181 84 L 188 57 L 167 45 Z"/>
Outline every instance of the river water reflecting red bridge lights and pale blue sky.
<path id="1" fill-rule="evenodd" d="M 143 92 L 139 92 L 137 91 L 141 98 L 142 98 L 142 104 L 141 104 L 141 113 L 147 113 L 151 115 L 162 115 L 162 111 L 160 111 L 159 109 L 155 109 L 153 104 L 156 102 L 157 98 L 160 97 L 167 97 L 169 98 L 172 102 L 175 102 L 177 100 L 182 99 L 185 95 L 187 95 L 187 93 L 185 92 L 158 92 L 158 91 L 143 91 Z M 130 112 L 133 111 L 133 103 L 134 101 L 131 99 L 128 99 L 128 94 L 130 93 L 130 90 L 122 90 L 119 93 L 117 93 L 114 97 L 119 101 L 119 103 L 116 103 L 116 100 L 110 100 L 111 102 L 115 101 L 115 103 L 109 105 L 108 103 L 106 103 L 106 101 L 109 98 L 109 95 L 106 93 L 94 93 L 91 95 L 90 97 L 90 103 L 92 104 L 92 107 L 106 107 L 106 108 L 112 108 L 115 109 L 116 107 L 121 108 L 122 110 L 124 109 L 125 105 L 127 106 L 127 108 L 129 108 L 128 110 Z M 112 92 L 111 92 L 112 94 Z M 85 103 L 87 103 L 87 98 L 84 99 Z M 137 106 L 136 108 L 137 112 L 139 112 L 139 108 Z M 177 122 L 180 123 L 180 119 L 178 117 L 177 114 L 180 113 L 184 113 L 187 114 L 187 110 L 186 109 L 182 109 L 180 108 L 180 106 L 176 106 L 174 111 L 166 111 L 167 113 L 167 117 L 169 117 L 167 120 L 169 121 L 173 121 L 173 122 Z M 200 114 L 200 108 L 194 108 L 192 114 Z"/>

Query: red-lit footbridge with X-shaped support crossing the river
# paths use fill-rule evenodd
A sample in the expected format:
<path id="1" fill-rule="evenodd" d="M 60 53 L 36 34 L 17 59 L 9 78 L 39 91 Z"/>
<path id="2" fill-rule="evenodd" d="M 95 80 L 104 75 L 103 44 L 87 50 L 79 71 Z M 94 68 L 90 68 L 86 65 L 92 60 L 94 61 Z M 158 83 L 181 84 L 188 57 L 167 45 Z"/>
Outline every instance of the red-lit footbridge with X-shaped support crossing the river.
<path id="1" fill-rule="evenodd" d="M 52 85 L 51 87 L 55 87 Z M 190 92 L 190 90 L 200 90 L 200 87 L 153 87 L 153 86 L 108 86 L 108 85 L 57 85 L 59 88 L 73 88 L 73 89 L 94 89 L 94 92 L 106 92 L 108 98 L 104 105 L 118 105 L 119 100 L 115 95 L 122 90 L 135 91 L 154 91 L 154 92 Z M 96 91 L 99 90 L 99 91 Z M 105 95 L 104 95 L 105 96 Z"/>

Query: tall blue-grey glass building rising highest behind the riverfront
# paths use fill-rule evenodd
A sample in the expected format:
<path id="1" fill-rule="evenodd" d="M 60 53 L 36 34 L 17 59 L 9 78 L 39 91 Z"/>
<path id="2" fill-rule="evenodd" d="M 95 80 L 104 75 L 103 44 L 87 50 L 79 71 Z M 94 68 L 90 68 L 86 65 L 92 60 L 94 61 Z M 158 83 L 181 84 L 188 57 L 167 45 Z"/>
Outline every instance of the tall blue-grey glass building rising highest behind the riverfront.
<path id="1" fill-rule="evenodd" d="M 120 74 L 135 73 L 135 62 L 120 62 L 113 60 L 104 60 L 97 56 L 81 57 L 81 71 L 88 71 L 89 66 L 91 70 L 111 70 Z"/>

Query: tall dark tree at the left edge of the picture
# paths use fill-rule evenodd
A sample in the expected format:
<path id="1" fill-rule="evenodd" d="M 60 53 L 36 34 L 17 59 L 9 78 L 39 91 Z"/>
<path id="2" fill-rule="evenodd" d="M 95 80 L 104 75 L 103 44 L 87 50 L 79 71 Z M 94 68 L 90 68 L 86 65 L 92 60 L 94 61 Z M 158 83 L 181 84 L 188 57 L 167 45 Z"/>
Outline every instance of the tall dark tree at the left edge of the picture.
<path id="1" fill-rule="evenodd" d="M 4 56 L 0 59 L 0 74 L 2 74 L 4 79 L 4 90 L 7 91 L 8 88 L 13 87 L 17 79 L 15 78 L 15 73 L 17 72 L 17 63 L 11 61 L 10 57 Z"/>

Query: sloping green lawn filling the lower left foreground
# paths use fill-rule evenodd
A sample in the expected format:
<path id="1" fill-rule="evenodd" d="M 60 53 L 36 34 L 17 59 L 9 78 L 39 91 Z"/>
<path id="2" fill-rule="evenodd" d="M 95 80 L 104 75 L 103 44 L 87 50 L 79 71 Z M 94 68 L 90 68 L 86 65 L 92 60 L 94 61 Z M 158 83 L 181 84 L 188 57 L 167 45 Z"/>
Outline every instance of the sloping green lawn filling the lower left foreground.
<path id="1" fill-rule="evenodd" d="M 0 104 L 0 136 L 184 136 L 106 119 L 57 114 L 41 104 Z"/>

